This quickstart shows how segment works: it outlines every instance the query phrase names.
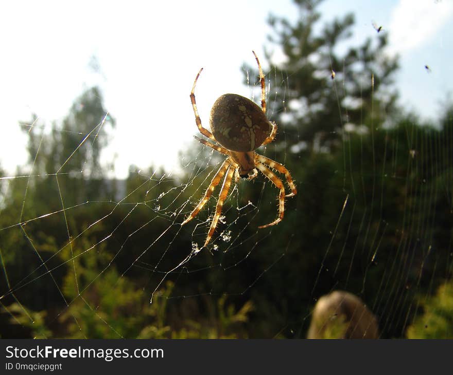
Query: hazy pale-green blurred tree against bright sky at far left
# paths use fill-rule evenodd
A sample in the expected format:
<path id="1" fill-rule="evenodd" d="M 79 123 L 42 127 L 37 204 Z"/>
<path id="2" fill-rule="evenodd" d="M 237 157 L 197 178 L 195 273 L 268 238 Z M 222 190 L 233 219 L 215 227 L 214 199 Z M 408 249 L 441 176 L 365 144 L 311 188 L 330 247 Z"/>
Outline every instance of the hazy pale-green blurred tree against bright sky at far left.
<path id="1" fill-rule="evenodd" d="M 37 131 L 42 124 L 36 115 L 22 123 L 27 124 L 22 129 L 28 135 L 33 174 L 40 176 L 33 180 L 37 184 L 31 191 L 36 194 L 35 201 L 46 202 L 46 209 L 57 210 L 61 209 L 59 191 L 64 192 L 65 204 L 75 205 L 111 190 L 111 186 L 102 186 L 105 171 L 100 154 L 108 145 L 107 129 L 115 127 L 115 119 L 104 108 L 98 87 L 86 89 L 61 125 L 54 123 L 49 134 Z M 49 197 L 53 197 L 51 202 Z"/>

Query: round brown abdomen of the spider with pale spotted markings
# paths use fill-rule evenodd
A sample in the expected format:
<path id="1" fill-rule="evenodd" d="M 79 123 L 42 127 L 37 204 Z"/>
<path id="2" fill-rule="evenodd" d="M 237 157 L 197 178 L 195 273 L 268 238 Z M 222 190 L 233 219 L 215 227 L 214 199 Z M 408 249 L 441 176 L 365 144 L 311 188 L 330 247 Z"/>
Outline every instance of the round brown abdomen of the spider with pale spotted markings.
<path id="1" fill-rule="evenodd" d="M 222 95 L 215 101 L 210 125 L 217 142 L 238 152 L 258 148 L 272 130 L 272 124 L 257 104 L 233 93 Z"/>

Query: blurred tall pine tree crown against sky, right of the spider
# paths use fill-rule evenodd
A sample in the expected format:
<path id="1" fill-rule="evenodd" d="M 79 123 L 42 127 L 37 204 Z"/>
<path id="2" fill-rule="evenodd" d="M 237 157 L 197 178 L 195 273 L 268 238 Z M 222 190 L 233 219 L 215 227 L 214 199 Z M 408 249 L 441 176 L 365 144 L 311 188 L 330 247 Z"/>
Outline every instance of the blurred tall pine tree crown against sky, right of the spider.
<path id="1" fill-rule="evenodd" d="M 276 143 L 284 140 L 286 149 L 294 146 L 293 152 L 304 148 L 328 151 L 341 139 L 338 132 L 345 124 L 350 128 L 378 126 L 394 109 L 396 99 L 389 86 L 398 65 L 396 58 L 385 54 L 385 32 L 345 49 L 354 15 L 336 18 L 315 32 L 321 17 L 316 8 L 321 2 L 295 0 L 300 16 L 294 25 L 274 15 L 268 20 L 274 30 L 269 41 L 276 47 L 266 51 L 268 108 L 271 119 L 285 132 Z M 271 58 L 278 49 L 283 62 Z M 247 70 L 258 75 L 254 67 Z"/>

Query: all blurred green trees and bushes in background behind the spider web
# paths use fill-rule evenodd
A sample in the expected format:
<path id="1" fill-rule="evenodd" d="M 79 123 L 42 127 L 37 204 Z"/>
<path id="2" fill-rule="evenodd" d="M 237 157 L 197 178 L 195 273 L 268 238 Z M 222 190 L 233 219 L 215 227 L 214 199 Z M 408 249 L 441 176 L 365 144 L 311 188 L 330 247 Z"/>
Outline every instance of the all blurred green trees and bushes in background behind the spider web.
<path id="1" fill-rule="evenodd" d="M 151 166 L 107 178 L 99 155 L 114 114 L 88 88 L 50 134 L 25 128 L 31 172 L 16 176 L 33 177 L 0 180 L 2 337 L 305 337 L 317 299 L 336 289 L 360 296 L 381 337 L 453 337 L 453 104 L 439 123 L 407 113 L 385 33 L 338 49 L 354 15 L 315 34 L 316 7 L 297 4 L 295 24 L 269 17 L 268 50 L 283 47 L 285 62 L 262 57 L 280 131 L 258 152 L 283 162 L 299 190 L 284 222 L 257 232 L 276 214 L 276 191 L 240 183 L 237 199 L 260 205 L 226 210 L 234 249 L 202 249 L 191 272 L 166 274 L 204 240 L 205 223 L 179 224 L 221 157 L 194 142 L 184 176 Z"/>

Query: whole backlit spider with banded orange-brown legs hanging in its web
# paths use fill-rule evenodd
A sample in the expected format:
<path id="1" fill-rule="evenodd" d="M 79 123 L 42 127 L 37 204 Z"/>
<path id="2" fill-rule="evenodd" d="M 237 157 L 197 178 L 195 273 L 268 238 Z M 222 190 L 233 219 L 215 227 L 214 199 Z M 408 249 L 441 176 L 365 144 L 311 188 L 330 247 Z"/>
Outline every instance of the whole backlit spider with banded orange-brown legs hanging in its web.
<path id="1" fill-rule="evenodd" d="M 211 240 L 214 231 L 217 227 L 220 214 L 222 212 L 223 202 L 228 196 L 233 175 L 235 181 L 240 178 L 254 179 L 258 175 L 258 171 L 266 176 L 277 189 L 280 190 L 278 195 L 278 217 L 269 224 L 258 228 L 267 228 L 273 226 L 283 219 L 285 211 L 285 197 L 291 197 L 297 194 L 291 174 L 283 164 L 280 164 L 263 155 L 255 153 L 255 149 L 272 142 L 277 132 L 275 123 L 270 122 L 266 117 L 266 99 L 265 99 L 265 77 L 263 69 L 259 64 L 258 57 L 255 51 L 252 51 L 256 63 L 258 64 L 259 78 L 261 83 L 261 107 L 251 100 L 236 95 L 227 93 L 220 96 L 214 103 L 211 109 L 210 125 L 212 133 L 201 125 L 201 119 L 198 115 L 197 104 L 195 102 L 195 85 L 200 77 L 203 68 L 197 74 L 194 85 L 190 91 L 190 101 L 194 109 L 195 122 L 199 132 L 209 139 L 195 137 L 200 143 L 211 147 L 219 153 L 226 155 L 217 173 L 211 180 L 210 185 L 206 189 L 203 198 L 197 204 L 195 209 L 186 217 L 181 225 L 186 224 L 193 219 L 206 202 L 210 199 L 216 186 L 220 183 L 223 176 L 223 184 L 220 188 L 220 194 L 216 205 L 216 212 L 211 222 L 211 227 L 207 233 L 203 247 Z M 286 194 L 285 186 L 280 178 L 278 178 L 272 170 L 276 170 L 285 175 L 286 181 L 291 190 L 290 194 Z"/>

